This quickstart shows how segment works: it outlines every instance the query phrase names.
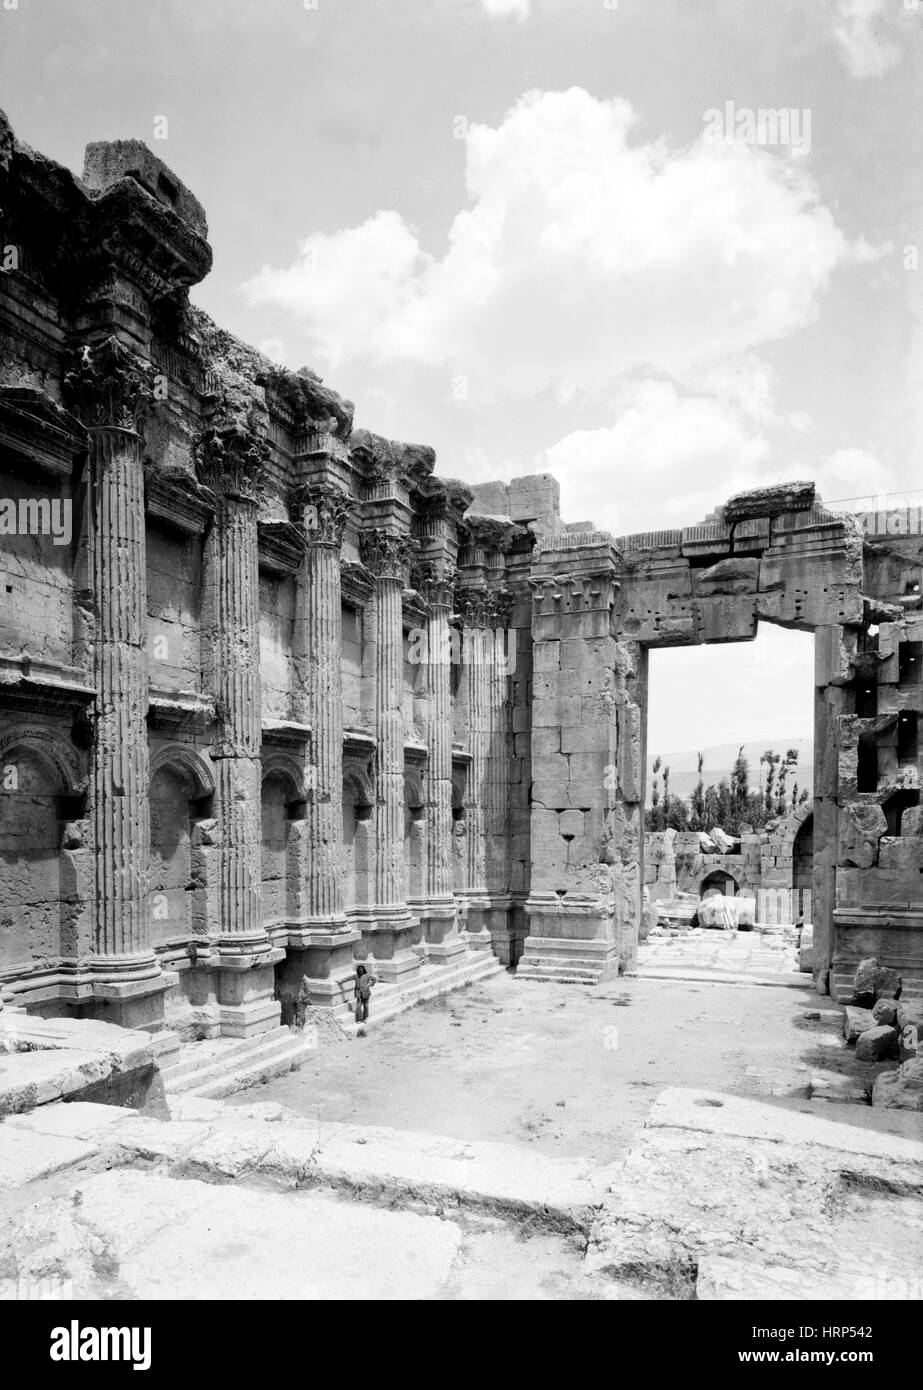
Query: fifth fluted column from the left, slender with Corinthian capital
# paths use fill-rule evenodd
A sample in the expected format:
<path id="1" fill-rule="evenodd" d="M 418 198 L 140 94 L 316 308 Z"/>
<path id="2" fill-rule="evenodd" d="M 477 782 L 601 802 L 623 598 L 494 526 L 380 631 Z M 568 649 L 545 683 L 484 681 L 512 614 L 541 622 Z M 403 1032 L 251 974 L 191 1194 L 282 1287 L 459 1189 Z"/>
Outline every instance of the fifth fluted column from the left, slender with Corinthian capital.
<path id="1" fill-rule="evenodd" d="M 427 959 L 443 965 L 464 954 L 457 930 L 453 890 L 452 834 L 452 646 L 449 616 L 455 569 L 445 560 L 414 571 L 413 584 L 427 605 L 427 770 L 425 795 L 425 903 L 421 912 Z"/>

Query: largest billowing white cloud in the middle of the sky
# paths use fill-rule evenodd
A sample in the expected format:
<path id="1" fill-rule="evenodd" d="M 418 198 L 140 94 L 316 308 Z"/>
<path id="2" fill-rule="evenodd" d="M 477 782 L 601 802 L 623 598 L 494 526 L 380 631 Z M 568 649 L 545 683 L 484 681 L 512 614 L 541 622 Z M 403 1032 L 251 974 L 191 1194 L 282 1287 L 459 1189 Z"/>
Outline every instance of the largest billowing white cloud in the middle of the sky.
<path id="1" fill-rule="evenodd" d="M 752 146 L 631 140 L 621 100 L 531 92 L 473 125 L 471 206 L 442 259 L 395 211 L 309 236 L 245 286 L 311 349 L 438 364 L 473 400 L 603 393 L 631 371 L 683 379 L 812 321 L 851 247 L 806 171 Z"/>

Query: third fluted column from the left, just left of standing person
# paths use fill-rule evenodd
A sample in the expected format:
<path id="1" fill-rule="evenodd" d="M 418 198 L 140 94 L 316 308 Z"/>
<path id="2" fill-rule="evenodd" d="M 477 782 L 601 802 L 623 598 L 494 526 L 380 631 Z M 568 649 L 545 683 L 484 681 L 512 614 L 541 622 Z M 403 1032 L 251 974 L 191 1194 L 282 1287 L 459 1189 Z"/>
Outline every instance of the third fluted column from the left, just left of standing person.
<path id="1" fill-rule="evenodd" d="M 300 922 L 289 929 L 282 991 L 335 1005 L 349 997 L 353 945 L 360 933 L 343 905 L 343 695 L 341 546 L 353 506 L 342 488 L 311 482 L 293 499 L 303 527 L 304 560 L 295 602 L 295 716 L 311 727 L 306 769 L 307 820 L 300 880 Z"/>

